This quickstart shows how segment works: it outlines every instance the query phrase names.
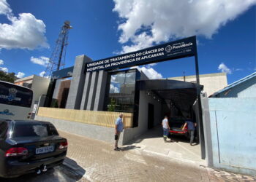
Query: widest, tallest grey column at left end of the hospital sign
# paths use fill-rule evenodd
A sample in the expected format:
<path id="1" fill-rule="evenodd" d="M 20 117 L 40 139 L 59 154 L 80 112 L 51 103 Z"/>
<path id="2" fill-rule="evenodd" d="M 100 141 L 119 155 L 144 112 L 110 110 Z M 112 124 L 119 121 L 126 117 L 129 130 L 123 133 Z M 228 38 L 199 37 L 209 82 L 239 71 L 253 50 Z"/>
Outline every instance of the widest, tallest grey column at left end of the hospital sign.
<path id="1" fill-rule="evenodd" d="M 86 63 L 89 62 L 91 62 L 91 58 L 88 58 L 86 55 L 78 55 L 75 58 L 75 66 L 69 88 L 69 95 L 67 97 L 66 108 L 80 109 L 80 103 L 83 95 L 83 86 L 86 78 L 84 70 Z"/>

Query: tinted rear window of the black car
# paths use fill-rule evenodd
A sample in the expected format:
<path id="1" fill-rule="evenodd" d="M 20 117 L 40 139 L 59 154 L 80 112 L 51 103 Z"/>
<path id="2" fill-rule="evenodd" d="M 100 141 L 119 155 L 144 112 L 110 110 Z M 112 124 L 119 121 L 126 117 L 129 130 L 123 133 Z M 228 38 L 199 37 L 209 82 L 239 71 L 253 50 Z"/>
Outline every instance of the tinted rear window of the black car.
<path id="1" fill-rule="evenodd" d="M 52 124 L 16 122 L 12 138 L 47 137 L 51 135 L 59 135 L 56 128 L 53 127 Z"/>

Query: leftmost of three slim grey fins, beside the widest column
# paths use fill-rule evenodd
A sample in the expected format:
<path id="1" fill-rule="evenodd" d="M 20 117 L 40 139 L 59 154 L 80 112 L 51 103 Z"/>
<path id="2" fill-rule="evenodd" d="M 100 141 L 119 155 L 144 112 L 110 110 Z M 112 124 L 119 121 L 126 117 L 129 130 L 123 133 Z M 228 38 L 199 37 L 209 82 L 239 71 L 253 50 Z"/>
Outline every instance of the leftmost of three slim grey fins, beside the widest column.
<path id="1" fill-rule="evenodd" d="M 86 110 L 86 108 L 87 108 L 89 92 L 90 92 L 90 87 L 91 87 L 91 75 L 92 75 L 91 72 L 86 73 L 86 81 L 84 82 L 83 98 L 81 101 L 80 110 Z"/>

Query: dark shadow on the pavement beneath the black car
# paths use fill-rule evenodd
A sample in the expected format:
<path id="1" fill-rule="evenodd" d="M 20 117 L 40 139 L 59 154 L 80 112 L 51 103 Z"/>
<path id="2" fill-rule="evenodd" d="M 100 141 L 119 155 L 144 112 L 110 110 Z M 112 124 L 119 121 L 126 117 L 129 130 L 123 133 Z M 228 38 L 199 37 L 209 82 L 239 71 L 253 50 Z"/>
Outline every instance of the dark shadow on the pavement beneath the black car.
<path id="1" fill-rule="evenodd" d="M 67 161 L 67 162 L 66 162 Z M 26 175 L 20 175 L 17 178 L 0 178 L 1 182 L 75 182 L 83 178 L 86 170 L 83 170 L 77 162 L 72 159 L 66 158 L 63 165 L 56 166 L 48 169 L 45 173 L 37 175 L 36 173 L 30 173 Z"/>

